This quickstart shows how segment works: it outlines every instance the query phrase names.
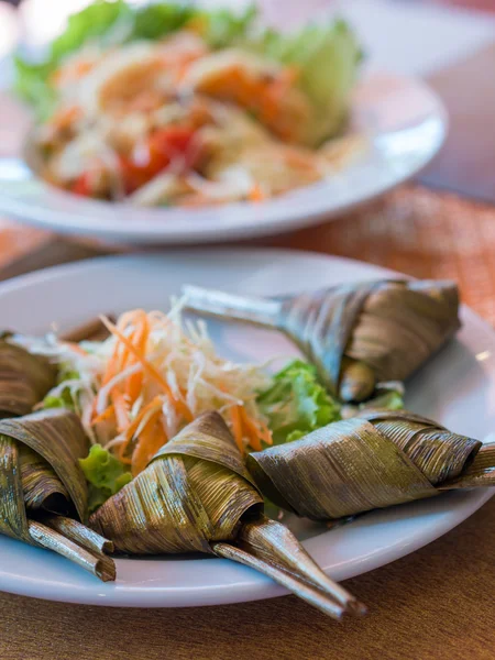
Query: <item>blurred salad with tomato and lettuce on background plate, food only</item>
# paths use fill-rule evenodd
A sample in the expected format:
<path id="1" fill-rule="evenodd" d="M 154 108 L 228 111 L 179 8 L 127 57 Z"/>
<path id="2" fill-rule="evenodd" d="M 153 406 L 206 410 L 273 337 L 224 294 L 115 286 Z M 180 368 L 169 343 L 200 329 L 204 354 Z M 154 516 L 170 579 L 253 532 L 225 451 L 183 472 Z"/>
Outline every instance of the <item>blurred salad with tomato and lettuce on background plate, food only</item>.
<path id="1" fill-rule="evenodd" d="M 342 21 L 297 34 L 255 11 L 98 0 L 44 62 L 15 59 L 36 111 L 35 169 L 75 195 L 138 206 L 260 201 L 332 176 L 361 51 Z"/>

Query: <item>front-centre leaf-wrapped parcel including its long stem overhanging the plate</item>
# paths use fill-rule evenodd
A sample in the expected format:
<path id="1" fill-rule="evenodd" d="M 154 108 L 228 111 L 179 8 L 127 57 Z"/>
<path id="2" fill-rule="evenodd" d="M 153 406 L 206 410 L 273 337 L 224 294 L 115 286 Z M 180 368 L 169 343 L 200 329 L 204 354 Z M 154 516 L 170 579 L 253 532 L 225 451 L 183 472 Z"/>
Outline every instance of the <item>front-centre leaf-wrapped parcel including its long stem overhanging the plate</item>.
<path id="1" fill-rule="evenodd" d="M 129 554 L 206 552 L 252 566 L 340 618 L 364 608 L 333 583 L 263 498 L 218 413 L 205 413 L 169 440 L 147 468 L 90 517 Z"/>

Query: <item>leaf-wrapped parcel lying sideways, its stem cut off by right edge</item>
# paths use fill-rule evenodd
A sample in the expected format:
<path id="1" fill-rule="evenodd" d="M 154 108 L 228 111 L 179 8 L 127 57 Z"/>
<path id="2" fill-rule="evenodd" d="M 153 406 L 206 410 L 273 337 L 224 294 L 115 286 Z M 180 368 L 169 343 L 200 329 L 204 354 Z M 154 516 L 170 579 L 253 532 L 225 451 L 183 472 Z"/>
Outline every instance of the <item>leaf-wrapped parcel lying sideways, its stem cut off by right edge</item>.
<path id="1" fill-rule="evenodd" d="M 495 485 L 495 443 L 406 410 L 371 410 L 253 452 L 248 469 L 276 505 L 314 520 Z"/>

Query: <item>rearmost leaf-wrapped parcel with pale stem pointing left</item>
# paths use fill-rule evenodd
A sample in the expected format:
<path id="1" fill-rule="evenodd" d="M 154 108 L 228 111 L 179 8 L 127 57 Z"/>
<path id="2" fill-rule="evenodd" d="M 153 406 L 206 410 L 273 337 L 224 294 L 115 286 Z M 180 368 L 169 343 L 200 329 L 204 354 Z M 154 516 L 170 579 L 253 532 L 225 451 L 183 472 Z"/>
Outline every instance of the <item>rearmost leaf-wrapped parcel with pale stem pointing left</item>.
<path id="1" fill-rule="evenodd" d="M 184 293 L 188 309 L 287 334 L 343 402 L 406 380 L 460 327 L 458 288 L 448 280 L 372 280 L 279 299 Z"/>

